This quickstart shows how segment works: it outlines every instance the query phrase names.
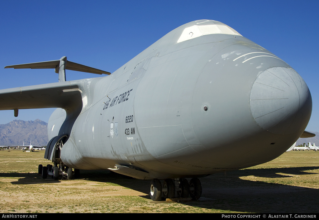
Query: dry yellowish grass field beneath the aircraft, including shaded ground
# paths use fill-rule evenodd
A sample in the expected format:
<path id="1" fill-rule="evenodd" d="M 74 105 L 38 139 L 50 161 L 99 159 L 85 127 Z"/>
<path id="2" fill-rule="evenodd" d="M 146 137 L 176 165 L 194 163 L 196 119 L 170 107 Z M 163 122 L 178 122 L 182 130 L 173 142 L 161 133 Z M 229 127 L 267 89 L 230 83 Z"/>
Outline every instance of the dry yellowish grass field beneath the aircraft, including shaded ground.
<path id="1" fill-rule="evenodd" d="M 42 179 L 44 151 L 0 151 L 1 213 L 317 213 L 319 152 L 291 151 L 248 169 L 201 178 L 211 200 L 153 203 L 150 181 L 81 171 L 80 179 Z"/>

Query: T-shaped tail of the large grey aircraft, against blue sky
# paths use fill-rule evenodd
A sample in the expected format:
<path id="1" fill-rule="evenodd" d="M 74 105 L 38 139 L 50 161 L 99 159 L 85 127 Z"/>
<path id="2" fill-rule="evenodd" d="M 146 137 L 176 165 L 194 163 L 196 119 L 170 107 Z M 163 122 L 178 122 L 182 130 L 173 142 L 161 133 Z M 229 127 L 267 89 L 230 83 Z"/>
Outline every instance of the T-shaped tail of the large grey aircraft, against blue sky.
<path id="1" fill-rule="evenodd" d="M 37 63 L 28 63 L 28 64 L 18 64 L 5 66 L 4 68 L 14 68 L 14 69 L 55 69 L 56 73 L 59 73 L 59 82 L 65 82 L 65 70 L 74 70 L 80 72 L 88 72 L 95 74 L 107 74 L 110 75 L 110 72 L 103 70 L 95 69 L 89 66 L 82 64 L 74 63 L 67 61 L 66 57 L 61 57 L 59 60 L 51 60 Z"/>

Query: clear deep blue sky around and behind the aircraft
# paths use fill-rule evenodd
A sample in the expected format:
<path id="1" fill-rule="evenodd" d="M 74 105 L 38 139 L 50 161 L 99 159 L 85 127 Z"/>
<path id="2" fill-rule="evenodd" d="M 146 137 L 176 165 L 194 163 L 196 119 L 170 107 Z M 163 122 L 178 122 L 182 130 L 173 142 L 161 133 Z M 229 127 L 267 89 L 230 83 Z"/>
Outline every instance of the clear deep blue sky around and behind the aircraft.
<path id="1" fill-rule="evenodd" d="M 290 64 L 313 100 L 308 131 L 319 131 L 319 1 L 1 1 L 0 89 L 57 82 L 53 69 L 3 69 L 60 59 L 114 72 L 169 31 L 198 19 L 234 28 Z M 67 80 L 99 75 L 67 71 Z M 54 109 L 0 111 L 48 122 Z"/>

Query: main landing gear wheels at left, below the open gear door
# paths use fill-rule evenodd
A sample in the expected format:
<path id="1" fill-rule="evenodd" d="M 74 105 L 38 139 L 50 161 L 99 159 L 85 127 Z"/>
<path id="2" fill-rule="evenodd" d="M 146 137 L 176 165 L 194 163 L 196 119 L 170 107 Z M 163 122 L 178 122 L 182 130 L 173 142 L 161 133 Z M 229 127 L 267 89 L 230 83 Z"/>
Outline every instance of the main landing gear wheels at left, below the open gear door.
<path id="1" fill-rule="evenodd" d="M 40 164 L 38 166 L 38 174 L 41 174 L 43 179 L 46 179 L 48 176 L 56 180 L 59 179 L 59 177 L 72 179 L 73 177 L 77 178 L 79 176 L 80 170 L 74 169 L 74 171 L 72 171 L 72 168 L 61 165 L 57 166 L 56 163 L 54 166 L 51 164 L 42 166 L 42 164 Z"/>

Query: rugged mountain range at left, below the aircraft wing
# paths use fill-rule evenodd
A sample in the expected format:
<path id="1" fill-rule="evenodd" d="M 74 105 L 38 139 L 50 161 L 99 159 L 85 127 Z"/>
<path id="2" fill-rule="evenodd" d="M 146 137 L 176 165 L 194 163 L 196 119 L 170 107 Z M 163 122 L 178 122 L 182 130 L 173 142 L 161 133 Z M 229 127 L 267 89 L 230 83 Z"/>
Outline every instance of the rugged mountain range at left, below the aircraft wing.
<path id="1" fill-rule="evenodd" d="M 31 144 L 34 146 L 47 146 L 48 123 L 35 119 L 34 121 L 13 120 L 0 125 L 1 146 L 22 146 Z"/>

